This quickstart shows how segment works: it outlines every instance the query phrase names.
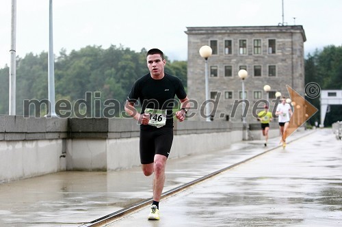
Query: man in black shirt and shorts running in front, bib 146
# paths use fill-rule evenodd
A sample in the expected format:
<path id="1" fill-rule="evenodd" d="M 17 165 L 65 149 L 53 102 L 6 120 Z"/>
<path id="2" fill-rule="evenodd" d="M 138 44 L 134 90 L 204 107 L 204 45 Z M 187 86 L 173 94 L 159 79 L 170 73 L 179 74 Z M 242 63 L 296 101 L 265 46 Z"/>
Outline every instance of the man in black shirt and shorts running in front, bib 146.
<path id="1" fill-rule="evenodd" d="M 181 101 L 181 109 L 176 118 L 182 122 L 189 109 L 189 98 L 181 80 L 164 72 L 166 59 L 159 49 L 146 53 L 147 67 L 150 71 L 133 84 L 124 106 L 129 116 L 140 125 L 140 161 L 145 176 L 153 176 L 153 202 L 148 219 L 159 220 L 159 201 L 165 182 L 165 166 L 173 139 L 174 96 Z M 139 99 L 142 111 L 134 107 Z"/>

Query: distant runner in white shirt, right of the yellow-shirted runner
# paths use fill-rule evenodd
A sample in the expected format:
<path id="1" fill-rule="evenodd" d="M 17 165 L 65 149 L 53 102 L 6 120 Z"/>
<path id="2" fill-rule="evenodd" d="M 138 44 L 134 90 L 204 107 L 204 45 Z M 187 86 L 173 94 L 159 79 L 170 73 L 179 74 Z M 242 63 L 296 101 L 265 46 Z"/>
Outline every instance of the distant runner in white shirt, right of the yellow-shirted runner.
<path id="1" fill-rule="evenodd" d="M 276 115 L 278 116 L 279 129 L 281 135 L 280 142 L 282 142 L 282 147 L 285 148 L 286 129 L 287 126 L 289 126 L 289 121 L 292 116 L 292 109 L 289 103 L 286 103 L 286 98 L 284 96 L 281 98 L 281 103 L 278 104 Z"/>

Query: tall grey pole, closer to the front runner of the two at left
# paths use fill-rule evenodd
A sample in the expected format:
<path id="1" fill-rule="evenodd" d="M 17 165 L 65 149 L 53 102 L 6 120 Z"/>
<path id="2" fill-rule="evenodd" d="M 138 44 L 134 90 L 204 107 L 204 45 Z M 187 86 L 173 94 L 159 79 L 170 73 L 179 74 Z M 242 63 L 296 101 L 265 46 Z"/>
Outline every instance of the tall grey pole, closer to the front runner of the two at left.
<path id="1" fill-rule="evenodd" d="M 49 78 L 48 78 L 48 89 L 49 89 L 49 117 L 56 116 L 55 114 L 55 58 L 53 56 L 53 20 L 52 20 L 52 0 L 49 3 Z"/>

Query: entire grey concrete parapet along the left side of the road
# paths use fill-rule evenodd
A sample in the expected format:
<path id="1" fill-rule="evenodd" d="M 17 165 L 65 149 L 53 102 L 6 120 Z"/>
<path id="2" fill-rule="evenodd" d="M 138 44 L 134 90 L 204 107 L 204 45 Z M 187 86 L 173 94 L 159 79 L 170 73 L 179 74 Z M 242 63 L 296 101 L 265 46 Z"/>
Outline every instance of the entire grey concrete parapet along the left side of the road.
<path id="1" fill-rule="evenodd" d="M 139 133 L 131 119 L 0 116 L 0 183 L 64 170 L 140 165 Z M 219 150 L 241 140 L 241 123 L 175 122 L 170 158 Z"/>

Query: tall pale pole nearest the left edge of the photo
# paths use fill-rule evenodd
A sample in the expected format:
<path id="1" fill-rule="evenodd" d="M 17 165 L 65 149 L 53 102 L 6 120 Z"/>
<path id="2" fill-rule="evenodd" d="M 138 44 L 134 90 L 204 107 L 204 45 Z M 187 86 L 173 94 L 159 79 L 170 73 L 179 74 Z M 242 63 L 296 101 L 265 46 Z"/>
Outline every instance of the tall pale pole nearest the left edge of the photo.
<path id="1" fill-rule="evenodd" d="M 16 115 L 16 0 L 12 0 L 9 114 Z"/>

